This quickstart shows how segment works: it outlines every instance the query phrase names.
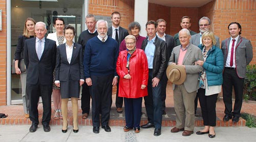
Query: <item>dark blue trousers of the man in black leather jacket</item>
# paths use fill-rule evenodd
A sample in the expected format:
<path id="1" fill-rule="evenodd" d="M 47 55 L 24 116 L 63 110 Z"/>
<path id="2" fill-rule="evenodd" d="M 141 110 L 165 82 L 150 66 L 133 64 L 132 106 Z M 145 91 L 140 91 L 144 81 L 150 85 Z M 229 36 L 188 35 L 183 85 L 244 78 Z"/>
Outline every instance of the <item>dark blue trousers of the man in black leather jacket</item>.
<path id="1" fill-rule="evenodd" d="M 161 129 L 163 114 L 163 102 L 161 100 L 162 81 L 160 79 L 158 86 L 152 87 L 152 72 L 152 69 L 148 69 L 148 96 L 144 97 L 146 114 L 148 122 L 154 124 L 155 128 Z"/>

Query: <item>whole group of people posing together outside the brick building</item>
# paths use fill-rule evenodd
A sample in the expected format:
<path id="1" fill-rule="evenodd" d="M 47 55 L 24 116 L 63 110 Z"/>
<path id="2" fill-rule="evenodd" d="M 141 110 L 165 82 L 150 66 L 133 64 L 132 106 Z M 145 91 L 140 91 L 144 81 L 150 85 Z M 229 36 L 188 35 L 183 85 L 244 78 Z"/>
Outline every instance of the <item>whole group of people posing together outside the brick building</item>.
<path id="1" fill-rule="evenodd" d="M 109 126 L 112 87 L 117 85 L 116 110 L 121 113 L 124 101 L 125 132 L 154 127 L 161 135 L 165 112 L 167 81 L 173 83 L 176 126 L 172 133 L 183 136 L 194 133 L 195 113 L 199 98 L 204 129 L 197 134 L 216 136 L 216 102 L 223 90 L 224 121 L 238 122 L 242 107 L 246 65 L 252 59 L 252 45 L 241 37 L 241 25 L 228 25 L 231 37 L 222 41 L 209 31 L 210 19 L 199 20 L 200 33 L 190 30 L 191 19 L 181 18 L 181 28 L 174 37 L 165 34 L 166 21 L 147 21 L 147 37 L 139 35 L 140 24 L 131 22 L 129 30 L 120 27 L 121 15 L 113 12 L 112 27 L 105 20 L 86 16 L 88 30 L 74 42 L 75 29 L 62 18 L 54 20 L 56 33 L 48 34 L 44 22 L 32 18 L 25 21 L 24 34 L 19 36 L 15 53 L 16 74 L 21 74 L 26 117 L 35 132 L 38 121 L 38 99 L 43 102 L 42 126 L 50 131 L 51 94 L 54 119 L 63 119 L 62 132 L 68 130 L 68 101 L 71 98 L 73 132 L 78 132 L 78 98 L 82 86 L 82 118 L 87 119 L 92 99 L 93 132 L 111 132 Z M 28 39 L 29 38 L 29 39 Z M 25 60 L 27 72 L 21 73 L 18 61 Z M 27 77 L 26 77 L 27 75 Z M 27 86 L 26 86 L 27 85 Z M 27 88 L 26 88 L 27 87 Z M 236 95 L 232 109 L 232 87 Z M 25 91 L 27 90 L 27 91 Z M 140 126 L 142 98 L 148 123 Z M 26 104 L 26 105 L 25 105 Z M 29 115 L 27 116 L 27 114 Z M 100 115 L 101 114 L 101 115 Z"/>

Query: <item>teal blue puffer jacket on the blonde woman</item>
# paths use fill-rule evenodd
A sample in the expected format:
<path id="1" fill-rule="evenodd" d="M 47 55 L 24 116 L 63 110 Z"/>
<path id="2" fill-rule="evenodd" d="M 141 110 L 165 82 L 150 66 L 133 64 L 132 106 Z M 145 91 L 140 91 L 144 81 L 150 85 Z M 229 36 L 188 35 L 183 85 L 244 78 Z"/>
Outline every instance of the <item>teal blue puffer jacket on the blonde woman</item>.
<path id="1" fill-rule="evenodd" d="M 204 46 L 200 44 L 198 46 L 203 50 Z M 211 50 L 208 51 L 208 56 L 203 64 L 203 68 L 206 72 L 206 78 L 208 86 L 222 85 L 222 71 L 224 68 L 224 58 L 221 49 L 216 46 L 212 46 Z"/>

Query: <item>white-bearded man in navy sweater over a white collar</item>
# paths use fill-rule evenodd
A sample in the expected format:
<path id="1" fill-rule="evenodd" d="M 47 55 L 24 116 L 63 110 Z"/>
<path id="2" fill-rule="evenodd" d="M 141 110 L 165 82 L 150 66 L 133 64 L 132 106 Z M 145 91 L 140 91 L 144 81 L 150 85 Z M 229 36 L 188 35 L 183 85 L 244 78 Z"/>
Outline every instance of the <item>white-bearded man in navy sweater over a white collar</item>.
<path id="1" fill-rule="evenodd" d="M 115 39 L 108 37 L 108 22 L 98 20 L 98 36 L 89 39 L 84 50 L 83 66 L 86 83 L 92 96 L 93 132 L 99 133 L 99 126 L 106 132 L 109 127 L 112 105 L 112 86 L 117 84 L 116 61 L 119 46 Z M 99 112 L 101 111 L 101 121 Z"/>

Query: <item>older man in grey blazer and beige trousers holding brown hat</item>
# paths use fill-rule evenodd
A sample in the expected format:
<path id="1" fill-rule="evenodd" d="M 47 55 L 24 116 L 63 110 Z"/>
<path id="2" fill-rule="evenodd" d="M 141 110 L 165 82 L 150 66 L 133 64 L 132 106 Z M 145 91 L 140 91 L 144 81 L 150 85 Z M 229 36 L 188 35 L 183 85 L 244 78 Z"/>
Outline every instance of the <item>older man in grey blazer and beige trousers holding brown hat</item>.
<path id="1" fill-rule="evenodd" d="M 199 73 L 203 67 L 195 65 L 197 60 L 203 60 L 201 50 L 189 43 L 190 33 L 187 29 L 179 32 L 181 45 L 173 49 L 168 64 L 178 64 L 185 68 L 186 79 L 181 85 L 173 84 L 174 90 L 174 108 L 176 112 L 176 127 L 171 132 L 177 133 L 184 131 L 183 136 L 189 136 L 194 133 L 195 114 L 194 100 L 199 88 Z"/>

